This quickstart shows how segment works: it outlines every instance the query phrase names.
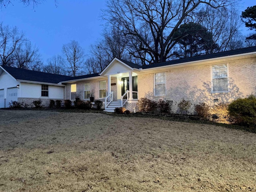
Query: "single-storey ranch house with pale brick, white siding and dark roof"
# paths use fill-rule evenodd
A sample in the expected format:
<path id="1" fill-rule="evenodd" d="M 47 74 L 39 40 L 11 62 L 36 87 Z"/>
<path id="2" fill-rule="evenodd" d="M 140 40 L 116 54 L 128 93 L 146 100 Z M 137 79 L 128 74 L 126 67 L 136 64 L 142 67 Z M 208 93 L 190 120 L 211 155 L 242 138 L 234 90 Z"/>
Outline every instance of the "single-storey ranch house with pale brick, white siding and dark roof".
<path id="1" fill-rule="evenodd" d="M 124 106 L 134 112 L 146 97 L 170 100 L 175 113 L 182 98 L 213 105 L 250 94 L 256 94 L 256 46 L 146 66 L 114 58 L 100 74 L 76 77 L 0 66 L 0 108 L 11 101 L 40 99 L 48 106 L 50 100 L 94 97 L 106 111 Z"/>

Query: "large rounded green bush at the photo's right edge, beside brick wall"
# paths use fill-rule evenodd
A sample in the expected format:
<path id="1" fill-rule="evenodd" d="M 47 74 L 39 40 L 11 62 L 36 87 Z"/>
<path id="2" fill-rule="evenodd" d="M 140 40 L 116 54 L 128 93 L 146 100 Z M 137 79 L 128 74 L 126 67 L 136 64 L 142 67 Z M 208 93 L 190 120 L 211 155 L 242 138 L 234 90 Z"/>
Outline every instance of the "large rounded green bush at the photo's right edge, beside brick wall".
<path id="1" fill-rule="evenodd" d="M 237 124 L 252 128 L 256 132 L 256 97 L 239 98 L 231 102 L 228 112 Z"/>

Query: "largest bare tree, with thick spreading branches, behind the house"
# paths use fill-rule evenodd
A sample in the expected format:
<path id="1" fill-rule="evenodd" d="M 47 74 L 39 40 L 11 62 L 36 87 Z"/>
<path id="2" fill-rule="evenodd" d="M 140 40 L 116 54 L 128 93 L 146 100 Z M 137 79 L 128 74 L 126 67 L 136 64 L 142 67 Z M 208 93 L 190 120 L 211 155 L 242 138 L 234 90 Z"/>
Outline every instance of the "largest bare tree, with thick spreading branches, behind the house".
<path id="1" fill-rule="evenodd" d="M 175 31 L 196 10 L 206 5 L 218 9 L 234 3 L 236 0 L 108 0 L 103 17 L 128 36 L 132 44 L 139 42 L 140 49 L 130 53 L 142 59 L 142 64 L 158 63 L 171 57 L 177 43 Z M 138 52 L 146 57 L 140 57 Z"/>

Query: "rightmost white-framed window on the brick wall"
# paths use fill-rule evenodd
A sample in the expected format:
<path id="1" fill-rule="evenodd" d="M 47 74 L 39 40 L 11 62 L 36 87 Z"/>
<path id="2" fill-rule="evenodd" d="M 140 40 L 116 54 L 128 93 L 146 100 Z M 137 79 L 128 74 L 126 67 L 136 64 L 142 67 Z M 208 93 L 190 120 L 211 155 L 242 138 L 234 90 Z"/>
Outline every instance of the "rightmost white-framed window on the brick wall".
<path id="1" fill-rule="evenodd" d="M 212 66 L 212 92 L 228 92 L 228 65 Z"/>

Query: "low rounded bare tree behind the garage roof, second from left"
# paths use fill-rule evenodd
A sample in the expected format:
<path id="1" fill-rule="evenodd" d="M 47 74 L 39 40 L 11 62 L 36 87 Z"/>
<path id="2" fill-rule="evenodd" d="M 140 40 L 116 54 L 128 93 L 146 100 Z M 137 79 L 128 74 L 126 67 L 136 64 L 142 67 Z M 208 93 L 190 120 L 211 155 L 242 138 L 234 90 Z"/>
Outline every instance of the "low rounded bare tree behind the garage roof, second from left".
<path id="1" fill-rule="evenodd" d="M 29 40 L 21 44 L 14 50 L 15 62 L 14 67 L 23 69 L 32 69 L 40 60 L 39 50 L 36 46 L 32 46 Z"/>

